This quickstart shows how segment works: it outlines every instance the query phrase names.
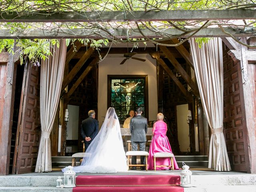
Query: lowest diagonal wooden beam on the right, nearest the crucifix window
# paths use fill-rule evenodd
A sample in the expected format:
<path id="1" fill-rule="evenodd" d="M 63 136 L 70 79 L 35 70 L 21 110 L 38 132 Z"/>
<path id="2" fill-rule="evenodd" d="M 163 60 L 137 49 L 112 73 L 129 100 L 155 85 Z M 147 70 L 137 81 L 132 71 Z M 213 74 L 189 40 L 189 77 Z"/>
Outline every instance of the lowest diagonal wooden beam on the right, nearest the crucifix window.
<path id="1" fill-rule="evenodd" d="M 178 86 L 178 88 L 180 89 L 180 91 L 184 94 L 184 96 L 186 98 L 189 98 L 189 100 L 191 100 L 191 96 L 189 94 L 189 92 L 184 88 L 184 86 L 182 85 L 182 83 L 178 80 L 178 78 L 173 74 L 173 72 L 170 70 L 170 68 L 166 65 L 166 63 L 164 62 L 164 60 L 162 60 L 161 58 L 156 57 L 156 60 L 159 62 L 159 64 L 164 68 L 164 70 L 166 71 L 166 73 L 170 76 L 170 78 L 172 78 L 172 80 L 174 81 L 174 83 Z"/>

